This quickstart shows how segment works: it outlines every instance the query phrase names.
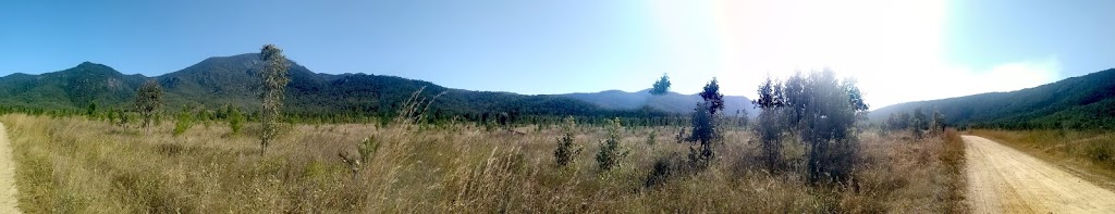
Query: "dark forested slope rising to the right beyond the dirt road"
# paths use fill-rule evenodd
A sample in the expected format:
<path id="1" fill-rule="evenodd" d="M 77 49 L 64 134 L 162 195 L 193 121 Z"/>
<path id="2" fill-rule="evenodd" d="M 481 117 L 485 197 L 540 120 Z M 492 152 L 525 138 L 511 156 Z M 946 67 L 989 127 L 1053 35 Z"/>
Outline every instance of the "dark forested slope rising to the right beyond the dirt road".
<path id="1" fill-rule="evenodd" d="M 881 121 L 918 107 L 939 110 L 957 126 L 1111 129 L 1115 128 L 1115 69 L 1010 93 L 899 104 L 873 110 L 871 117 Z"/>

